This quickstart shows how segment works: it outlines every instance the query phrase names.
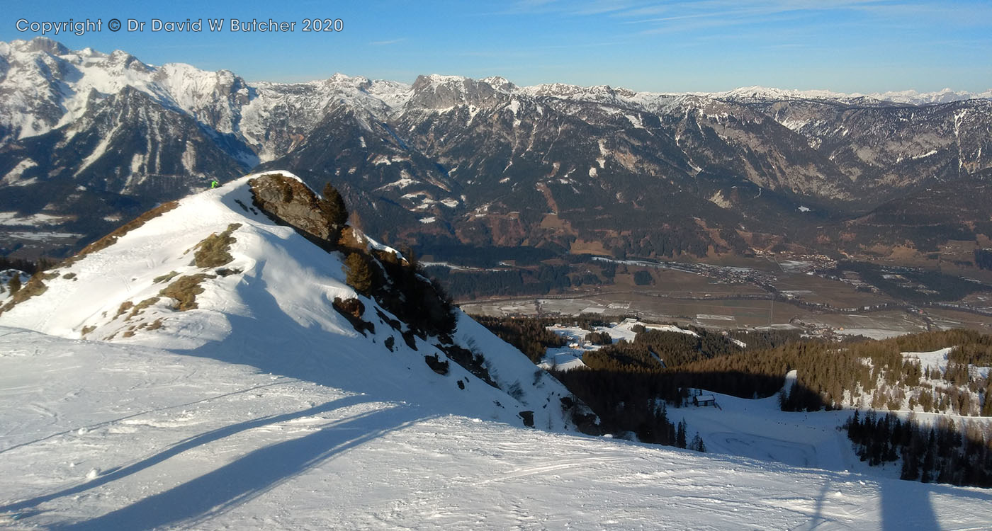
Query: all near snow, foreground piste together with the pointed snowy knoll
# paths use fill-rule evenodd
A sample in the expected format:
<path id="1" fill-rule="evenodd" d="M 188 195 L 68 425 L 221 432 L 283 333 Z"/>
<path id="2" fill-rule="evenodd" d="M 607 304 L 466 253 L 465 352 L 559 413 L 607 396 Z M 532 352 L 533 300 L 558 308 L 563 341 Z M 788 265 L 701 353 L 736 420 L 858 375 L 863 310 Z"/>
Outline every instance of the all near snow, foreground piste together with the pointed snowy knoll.
<path id="1" fill-rule="evenodd" d="M 389 326 L 363 336 L 330 308 L 355 296 L 339 258 L 243 210 L 246 180 L 184 199 L 0 315 L 0 528 L 992 526 L 983 489 L 577 434 L 567 391 L 464 316 L 455 340 L 501 388 L 454 363 L 436 374 L 429 341 L 390 352 Z M 225 266 L 242 272 L 203 280 L 197 309 L 163 297 L 119 312 L 163 274 L 199 271 L 184 253 L 230 223 Z"/>

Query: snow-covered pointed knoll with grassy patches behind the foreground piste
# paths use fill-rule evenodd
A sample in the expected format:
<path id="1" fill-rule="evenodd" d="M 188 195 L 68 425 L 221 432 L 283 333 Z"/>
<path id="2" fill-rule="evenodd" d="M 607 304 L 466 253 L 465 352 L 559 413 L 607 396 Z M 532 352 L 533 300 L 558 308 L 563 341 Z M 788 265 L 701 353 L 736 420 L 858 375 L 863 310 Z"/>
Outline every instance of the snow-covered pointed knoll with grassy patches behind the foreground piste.
<path id="1" fill-rule="evenodd" d="M 417 350 L 409 347 L 378 316 L 392 319 L 388 311 L 345 284 L 339 253 L 242 209 L 239 202 L 252 204 L 251 177 L 189 196 L 113 245 L 47 271 L 48 289 L 0 314 L 0 324 L 247 364 L 438 413 L 522 425 L 521 412 L 533 411 L 538 428 L 572 429 L 561 403 L 570 393 L 558 380 L 460 311 L 455 340 L 485 356 L 501 388 L 453 362 L 445 375 L 432 371 L 425 356 L 446 359 L 434 346 L 439 340 L 416 338 Z M 233 261 L 192 265 L 194 247 L 232 224 L 240 224 L 231 233 Z M 160 291 L 195 274 L 208 275 L 195 297 L 198 308 L 174 310 L 175 301 Z M 362 300 L 363 319 L 375 331 L 357 332 L 332 307 L 335 297 Z"/>

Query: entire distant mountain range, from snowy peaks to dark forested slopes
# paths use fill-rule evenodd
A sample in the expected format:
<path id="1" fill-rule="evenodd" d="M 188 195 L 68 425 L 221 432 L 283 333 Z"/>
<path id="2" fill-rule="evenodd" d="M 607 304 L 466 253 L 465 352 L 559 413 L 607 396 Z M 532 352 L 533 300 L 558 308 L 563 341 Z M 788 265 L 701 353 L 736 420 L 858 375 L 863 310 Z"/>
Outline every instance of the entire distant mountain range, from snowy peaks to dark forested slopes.
<path id="1" fill-rule="evenodd" d="M 332 180 L 395 243 L 701 256 L 992 235 L 992 91 L 249 83 L 39 38 L 0 44 L 0 95 L 5 226 L 82 240 L 256 166 Z"/>

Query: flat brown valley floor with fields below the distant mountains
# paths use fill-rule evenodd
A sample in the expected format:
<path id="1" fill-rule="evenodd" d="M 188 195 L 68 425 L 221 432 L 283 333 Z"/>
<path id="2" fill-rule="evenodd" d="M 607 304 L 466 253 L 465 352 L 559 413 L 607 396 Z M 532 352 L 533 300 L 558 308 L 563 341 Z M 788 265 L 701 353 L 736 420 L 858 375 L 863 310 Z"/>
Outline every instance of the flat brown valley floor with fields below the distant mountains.
<path id="1" fill-rule="evenodd" d="M 992 330 L 992 316 L 912 305 L 873 289 L 857 274 L 829 278 L 813 274 L 811 264 L 799 261 L 753 259 L 746 266 L 700 265 L 696 270 L 633 264 L 621 265 L 613 285 L 462 300 L 459 305 L 470 314 L 490 316 L 629 315 L 718 329 L 797 327 L 819 335 L 874 338 L 947 328 Z M 651 273 L 651 285 L 635 283 L 634 273 L 642 269 Z M 990 296 L 987 291 L 974 293 L 962 302 L 981 309 Z"/>

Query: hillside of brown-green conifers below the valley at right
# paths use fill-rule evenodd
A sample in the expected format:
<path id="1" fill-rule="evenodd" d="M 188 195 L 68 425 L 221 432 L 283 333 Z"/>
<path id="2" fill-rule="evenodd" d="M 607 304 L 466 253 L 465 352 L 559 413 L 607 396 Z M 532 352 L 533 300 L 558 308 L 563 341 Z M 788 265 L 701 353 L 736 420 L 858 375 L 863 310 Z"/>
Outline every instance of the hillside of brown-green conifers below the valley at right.
<path id="1" fill-rule="evenodd" d="M 562 320 L 588 329 L 608 324 L 602 317 L 480 322 L 538 361 L 561 345 L 547 327 Z M 633 341 L 587 351 L 584 367 L 555 372 L 607 430 L 675 445 L 684 439 L 668 408 L 684 406 L 690 389 L 744 398 L 781 391 L 786 411 L 855 409 L 845 427 L 870 465 L 902 460 L 906 479 L 992 484 L 992 423 L 983 418 L 992 416 L 992 336 L 947 330 L 833 343 L 782 331 L 633 330 Z M 795 383 L 783 389 L 791 371 Z"/>

